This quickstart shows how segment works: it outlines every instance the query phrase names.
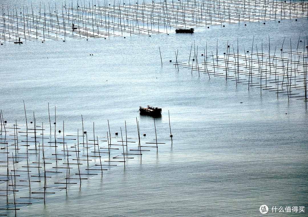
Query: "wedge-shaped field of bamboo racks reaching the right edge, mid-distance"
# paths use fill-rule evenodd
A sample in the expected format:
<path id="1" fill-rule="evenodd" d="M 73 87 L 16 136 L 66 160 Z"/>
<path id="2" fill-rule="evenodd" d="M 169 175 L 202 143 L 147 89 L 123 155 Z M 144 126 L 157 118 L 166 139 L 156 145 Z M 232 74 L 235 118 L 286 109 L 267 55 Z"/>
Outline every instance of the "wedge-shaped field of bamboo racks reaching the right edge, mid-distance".
<path id="1" fill-rule="evenodd" d="M 191 45 L 188 61 L 180 61 L 178 51 L 175 52 L 175 68 L 187 68 L 191 74 L 205 74 L 209 79 L 221 77 L 225 82 L 233 81 L 236 85 L 247 85 L 270 91 L 279 96 L 287 96 L 296 100 L 307 101 L 307 69 L 308 69 L 308 37 L 299 36 L 297 46 L 292 47 L 291 39 L 282 41 L 281 48 L 271 48 L 268 42 L 257 45 L 252 40 L 249 50 L 231 45 L 228 41 L 223 54 L 216 51 L 200 49 Z M 287 42 L 288 41 L 288 42 Z M 290 43 L 290 49 L 285 48 Z M 285 45 L 285 47 L 284 47 Z M 265 47 L 268 52 L 264 53 Z M 193 50 L 193 52 L 192 52 Z M 198 53 L 199 52 L 199 53 Z"/>

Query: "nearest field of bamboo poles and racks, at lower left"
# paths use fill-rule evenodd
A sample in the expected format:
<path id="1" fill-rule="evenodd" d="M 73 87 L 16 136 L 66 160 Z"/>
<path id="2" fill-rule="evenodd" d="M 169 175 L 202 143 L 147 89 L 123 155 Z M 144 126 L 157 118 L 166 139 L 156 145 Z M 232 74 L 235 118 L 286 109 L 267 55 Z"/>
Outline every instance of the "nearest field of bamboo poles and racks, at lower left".
<path id="1" fill-rule="evenodd" d="M 64 121 L 56 122 L 56 108 L 55 119 L 51 120 L 48 104 L 49 124 L 37 123 L 34 112 L 29 123 L 25 104 L 24 108 L 26 125 L 18 124 L 17 120 L 8 124 L 0 110 L 1 215 L 10 211 L 16 213 L 22 207 L 39 201 L 45 203 L 50 194 L 67 191 L 71 185 L 81 186 L 83 180 L 91 181 L 92 176 L 100 175 L 103 179 L 107 170 L 128 166 L 136 157 L 141 160 L 142 155 L 152 149 L 158 153 L 161 144 L 172 145 L 172 140 L 157 139 L 155 119 L 151 129 L 155 131 L 155 139 L 152 139 L 155 142 L 145 142 L 151 139 L 140 138 L 137 118 L 136 138 L 128 137 L 126 121 L 123 128 L 120 127 L 120 135 L 117 136 L 116 132 L 115 137 L 111 136 L 109 120 L 105 133 L 98 131 L 94 122 L 92 132 L 85 131 L 83 117 L 82 132 L 77 129 L 76 133 L 66 134 Z M 98 132 L 103 135 L 98 136 Z"/>

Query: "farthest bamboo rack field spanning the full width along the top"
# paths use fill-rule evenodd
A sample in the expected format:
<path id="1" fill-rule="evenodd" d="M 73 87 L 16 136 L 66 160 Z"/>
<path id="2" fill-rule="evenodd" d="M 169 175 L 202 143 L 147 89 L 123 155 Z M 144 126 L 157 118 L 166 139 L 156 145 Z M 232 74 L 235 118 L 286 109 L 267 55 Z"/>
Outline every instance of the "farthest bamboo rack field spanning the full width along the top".
<path id="1" fill-rule="evenodd" d="M 2 6 L 0 42 L 167 34 L 199 27 L 308 18 L 308 2 L 270 0 L 172 0 L 79 2 L 76 5 Z M 1 13 L 0 12 L 0 13 Z"/>

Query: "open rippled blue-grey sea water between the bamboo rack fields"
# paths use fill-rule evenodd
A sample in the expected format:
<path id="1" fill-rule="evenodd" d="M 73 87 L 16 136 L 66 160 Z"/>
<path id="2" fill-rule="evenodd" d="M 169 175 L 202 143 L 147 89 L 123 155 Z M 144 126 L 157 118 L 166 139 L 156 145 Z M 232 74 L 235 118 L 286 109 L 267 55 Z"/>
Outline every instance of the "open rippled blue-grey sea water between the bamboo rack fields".
<path id="1" fill-rule="evenodd" d="M 282 215 L 272 212 L 275 206 L 304 206 L 305 212 L 290 215 L 306 216 L 306 102 L 266 90 L 260 94 L 257 87 L 248 90 L 248 85 L 209 79 L 174 64 L 175 52 L 178 61 L 187 62 L 191 46 L 200 53 L 206 46 L 213 53 L 218 48 L 222 54 L 227 43 L 237 49 L 237 39 L 242 55 L 251 50 L 252 40 L 268 52 L 269 37 L 271 53 L 280 50 L 285 37 L 284 46 L 290 48 L 291 39 L 296 47 L 299 34 L 306 39 L 307 24 L 301 18 L 200 27 L 194 34 L 1 45 L 0 108 L 7 125 L 16 120 L 25 127 L 24 101 L 28 122 L 34 112 L 36 122 L 49 128 L 49 103 L 51 124 L 56 107 L 57 132 L 63 121 L 66 135 L 82 132 L 83 115 L 88 132 L 94 122 L 95 134 L 107 136 L 109 121 L 112 140 L 121 140 L 115 132 L 124 131 L 126 121 L 128 137 L 138 138 L 137 117 L 140 135 L 146 133 L 141 140 L 155 142 L 153 118 L 140 116 L 139 106 L 162 108 L 155 127 L 165 144 L 157 151 L 150 148 L 125 167 L 118 163 L 81 185 L 77 180 L 67 190 L 55 190 L 45 203 L 17 199 L 32 203 L 20 205 L 17 216 L 260 216 L 263 204 L 270 209 L 267 215 Z M 6 208 L 6 197 L 0 199 Z"/>

